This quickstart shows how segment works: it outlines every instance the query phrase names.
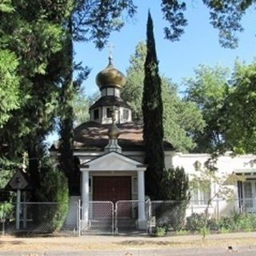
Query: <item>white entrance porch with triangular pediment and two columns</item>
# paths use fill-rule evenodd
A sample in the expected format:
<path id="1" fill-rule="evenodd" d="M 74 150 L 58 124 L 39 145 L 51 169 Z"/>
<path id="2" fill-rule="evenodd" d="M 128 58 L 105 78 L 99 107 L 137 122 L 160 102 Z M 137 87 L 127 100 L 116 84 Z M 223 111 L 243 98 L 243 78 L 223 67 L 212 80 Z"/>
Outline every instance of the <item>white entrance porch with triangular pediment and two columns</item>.
<path id="1" fill-rule="evenodd" d="M 146 166 L 141 162 L 137 162 L 131 158 L 127 158 L 122 154 L 116 152 L 110 152 L 103 154 L 101 157 L 94 158 L 93 160 L 81 165 L 82 171 L 82 222 L 83 229 L 89 225 L 89 206 L 92 201 L 90 179 L 95 177 L 130 177 L 137 178 L 137 182 L 133 182 L 132 190 L 136 191 L 138 196 L 138 226 L 141 229 L 145 229 L 146 226 L 146 213 L 145 213 L 145 182 L 144 172 Z M 130 179 L 131 180 L 131 179 Z M 135 187 L 137 186 L 137 187 Z M 107 191 L 106 191 L 107 193 Z M 118 198 L 118 194 L 115 194 Z"/>

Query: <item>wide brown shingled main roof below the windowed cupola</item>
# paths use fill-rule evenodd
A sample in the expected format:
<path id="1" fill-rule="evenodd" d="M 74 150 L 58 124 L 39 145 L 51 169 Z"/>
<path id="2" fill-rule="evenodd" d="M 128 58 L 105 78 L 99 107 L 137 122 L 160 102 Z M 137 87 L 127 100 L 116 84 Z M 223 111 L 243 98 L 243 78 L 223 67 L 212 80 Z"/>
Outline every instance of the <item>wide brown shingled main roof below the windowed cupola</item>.
<path id="1" fill-rule="evenodd" d="M 117 124 L 121 130 L 118 144 L 122 150 L 144 150 L 143 126 L 141 123 L 126 122 Z M 107 131 L 110 125 L 97 122 L 84 122 L 74 129 L 74 150 L 103 150 L 108 144 Z M 174 150 L 169 142 L 164 142 L 165 150 Z M 56 148 L 55 148 L 56 149 Z M 54 150 L 52 148 L 51 150 Z"/>

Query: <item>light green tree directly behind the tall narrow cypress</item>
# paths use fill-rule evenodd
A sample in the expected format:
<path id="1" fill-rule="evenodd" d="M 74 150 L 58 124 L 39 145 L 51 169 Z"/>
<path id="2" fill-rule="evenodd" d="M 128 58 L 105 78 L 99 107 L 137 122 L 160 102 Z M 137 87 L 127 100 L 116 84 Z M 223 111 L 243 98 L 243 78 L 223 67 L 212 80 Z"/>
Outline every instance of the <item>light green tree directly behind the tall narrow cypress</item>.
<path id="1" fill-rule="evenodd" d="M 130 66 L 126 75 L 127 82 L 122 90 L 122 98 L 129 102 L 133 119 L 138 120 L 142 120 L 145 60 L 146 44 L 138 42 L 135 53 L 130 57 Z M 178 96 L 178 86 L 169 78 L 161 75 L 161 80 L 164 138 L 171 142 L 176 150 L 191 150 L 195 144 L 190 135 L 201 131 L 204 126 L 201 111 L 194 102 L 183 101 Z"/>

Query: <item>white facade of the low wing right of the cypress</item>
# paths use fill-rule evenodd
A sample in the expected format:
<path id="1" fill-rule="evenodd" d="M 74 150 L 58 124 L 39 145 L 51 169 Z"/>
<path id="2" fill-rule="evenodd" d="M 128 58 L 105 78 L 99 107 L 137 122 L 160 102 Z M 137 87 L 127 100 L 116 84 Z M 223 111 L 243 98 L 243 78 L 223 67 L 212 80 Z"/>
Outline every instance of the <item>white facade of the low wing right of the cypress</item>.
<path id="1" fill-rule="evenodd" d="M 205 163 L 209 160 L 209 154 L 174 154 L 172 164 L 174 167 L 183 167 L 190 180 L 195 175 L 200 175 Z M 232 211 L 242 210 L 245 212 L 256 212 L 256 156 L 253 154 L 232 156 L 226 153 L 220 156 L 216 162 L 216 176 L 219 181 L 225 184 L 226 178 L 230 174 L 238 175 L 238 179 L 225 186 L 233 191 L 233 200 L 224 200 L 214 197 L 214 202 L 210 205 L 210 214 L 218 217 L 218 214 L 230 215 Z M 241 180 L 239 182 L 239 180 Z M 207 181 L 206 181 L 207 182 Z M 210 194 L 206 191 L 192 191 L 190 209 L 187 214 L 202 213 L 206 209 L 207 199 L 213 197 L 219 190 L 218 184 L 208 181 L 210 184 Z M 195 197 L 193 196 L 195 194 Z"/>

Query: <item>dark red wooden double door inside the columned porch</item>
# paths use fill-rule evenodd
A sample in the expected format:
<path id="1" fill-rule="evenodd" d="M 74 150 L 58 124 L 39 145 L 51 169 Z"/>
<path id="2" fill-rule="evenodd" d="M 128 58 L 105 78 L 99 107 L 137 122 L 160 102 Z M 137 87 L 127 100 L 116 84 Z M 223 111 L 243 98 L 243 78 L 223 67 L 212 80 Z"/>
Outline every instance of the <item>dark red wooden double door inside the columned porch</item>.
<path id="1" fill-rule="evenodd" d="M 130 176 L 94 176 L 93 178 L 94 201 L 110 201 L 115 203 L 122 200 L 131 200 L 131 177 Z M 129 205 L 127 207 L 127 205 Z M 101 207 L 94 209 L 94 216 L 103 217 Z M 96 211 L 95 211 L 96 210 Z M 118 204 L 118 218 L 130 218 L 131 209 L 129 203 Z"/>

